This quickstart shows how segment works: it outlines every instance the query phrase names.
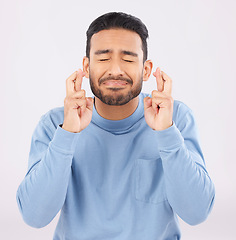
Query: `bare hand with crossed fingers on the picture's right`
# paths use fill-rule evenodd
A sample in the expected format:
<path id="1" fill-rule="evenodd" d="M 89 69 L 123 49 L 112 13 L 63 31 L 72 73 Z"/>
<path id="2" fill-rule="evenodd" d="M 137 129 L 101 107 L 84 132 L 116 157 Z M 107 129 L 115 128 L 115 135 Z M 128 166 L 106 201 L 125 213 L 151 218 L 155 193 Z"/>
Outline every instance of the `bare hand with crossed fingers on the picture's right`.
<path id="1" fill-rule="evenodd" d="M 158 91 L 153 90 L 151 98 L 144 98 L 144 117 L 149 127 L 161 131 L 173 125 L 172 80 L 160 68 L 153 75 L 156 77 Z"/>

